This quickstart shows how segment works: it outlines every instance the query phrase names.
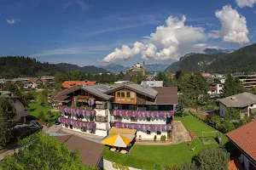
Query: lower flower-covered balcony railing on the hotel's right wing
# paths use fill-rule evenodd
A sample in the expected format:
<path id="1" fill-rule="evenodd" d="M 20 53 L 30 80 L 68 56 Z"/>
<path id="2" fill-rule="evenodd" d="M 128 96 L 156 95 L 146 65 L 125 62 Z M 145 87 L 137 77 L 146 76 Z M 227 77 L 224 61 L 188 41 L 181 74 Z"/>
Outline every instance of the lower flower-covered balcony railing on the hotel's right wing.
<path id="1" fill-rule="evenodd" d="M 136 124 L 136 123 L 121 123 L 116 122 L 115 127 L 118 128 L 130 128 L 130 129 L 137 129 L 143 131 L 169 131 L 172 130 L 172 124 L 170 125 L 148 125 L 148 124 Z"/>

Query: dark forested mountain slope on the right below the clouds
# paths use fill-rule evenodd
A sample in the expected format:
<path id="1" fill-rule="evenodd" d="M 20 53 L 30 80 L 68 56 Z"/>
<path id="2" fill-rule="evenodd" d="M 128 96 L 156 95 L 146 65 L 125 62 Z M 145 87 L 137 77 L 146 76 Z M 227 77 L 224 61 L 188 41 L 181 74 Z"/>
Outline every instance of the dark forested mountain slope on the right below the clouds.
<path id="1" fill-rule="evenodd" d="M 168 66 L 166 71 L 204 71 L 216 73 L 250 73 L 256 71 L 256 43 L 237 50 L 209 51 L 207 49 L 207 52 L 208 54 L 184 56 L 183 59 Z M 212 52 L 214 53 L 212 54 Z"/>

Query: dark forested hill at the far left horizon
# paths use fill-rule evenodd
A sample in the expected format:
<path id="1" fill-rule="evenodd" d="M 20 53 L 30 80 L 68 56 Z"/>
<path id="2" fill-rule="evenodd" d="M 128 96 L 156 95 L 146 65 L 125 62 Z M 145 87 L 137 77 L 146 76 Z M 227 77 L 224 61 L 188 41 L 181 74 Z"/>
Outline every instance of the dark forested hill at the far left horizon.
<path id="1" fill-rule="evenodd" d="M 0 78 L 53 76 L 60 67 L 24 56 L 0 57 Z"/>

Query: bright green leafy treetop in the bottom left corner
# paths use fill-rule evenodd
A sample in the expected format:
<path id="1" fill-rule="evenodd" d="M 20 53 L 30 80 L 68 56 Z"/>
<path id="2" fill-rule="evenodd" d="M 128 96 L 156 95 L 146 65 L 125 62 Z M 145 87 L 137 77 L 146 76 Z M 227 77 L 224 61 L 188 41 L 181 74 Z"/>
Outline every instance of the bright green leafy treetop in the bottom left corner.
<path id="1" fill-rule="evenodd" d="M 94 170 L 84 165 L 79 150 L 73 152 L 66 144 L 57 139 L 38 132 L 20 140 L 19 150 L 13 156 L 6 155 L 3 169 L 16 170 Z"/>

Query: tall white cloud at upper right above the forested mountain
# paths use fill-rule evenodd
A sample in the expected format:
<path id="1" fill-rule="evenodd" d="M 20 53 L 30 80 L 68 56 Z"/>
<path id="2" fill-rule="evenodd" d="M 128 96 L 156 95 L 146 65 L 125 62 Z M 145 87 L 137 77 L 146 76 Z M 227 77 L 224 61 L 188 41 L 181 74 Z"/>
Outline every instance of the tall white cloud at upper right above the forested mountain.
<path id="1" fill-rule="evenodd" d="M 213 30 L 208 37 L 223 38 L 224 42 L 247 43 L 249 42 L 247 20 L 236 9 L 225 5 L 221 10 L 215 12 L 215 16 L 221 23 L 220 30 Z"/>

